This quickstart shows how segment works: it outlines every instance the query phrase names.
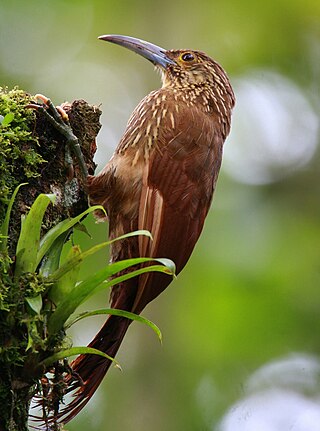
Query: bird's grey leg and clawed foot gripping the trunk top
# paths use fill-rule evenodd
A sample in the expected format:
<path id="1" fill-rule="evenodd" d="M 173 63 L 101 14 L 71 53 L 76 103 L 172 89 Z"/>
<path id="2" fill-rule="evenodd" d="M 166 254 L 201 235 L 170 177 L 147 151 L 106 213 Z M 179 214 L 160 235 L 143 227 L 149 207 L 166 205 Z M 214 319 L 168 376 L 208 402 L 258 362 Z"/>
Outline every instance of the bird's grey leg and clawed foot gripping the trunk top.
<path id="1" fill-rule="evenodd" d="M 84 181 L 86 181 L 88 177 L 88 168 L 80 148 L 79 140 L 70 126 L 68 114 L 61 106 L 55 107 L 51 100 L 42 94 L 36 94 L 35 99 L 41 100 L 42 103 L 30 103 L 27 107 L 40 111 L 54 126 L 54 128 L 66 138 L 66 164 L 68 165 L 69 170 L 73 169 L 71 157 L 71 151 L 73 151 L 78 160 L 81 175 Z"/>

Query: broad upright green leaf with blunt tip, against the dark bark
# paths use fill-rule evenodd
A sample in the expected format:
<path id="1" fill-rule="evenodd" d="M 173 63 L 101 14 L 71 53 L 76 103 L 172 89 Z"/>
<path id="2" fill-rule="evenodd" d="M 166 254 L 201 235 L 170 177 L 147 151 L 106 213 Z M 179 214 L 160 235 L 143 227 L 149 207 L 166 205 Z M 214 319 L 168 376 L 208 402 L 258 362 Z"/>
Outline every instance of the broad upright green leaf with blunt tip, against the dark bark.
<path id="1" fill-rule="evenodd" d="M 41 194 L 34 201 L 21 226 L 16 251 L 15 277 L 37 268 L 37 254 L 40 243 L 42 219 L 50 202 L 54 203 L 55 195 Z"/>

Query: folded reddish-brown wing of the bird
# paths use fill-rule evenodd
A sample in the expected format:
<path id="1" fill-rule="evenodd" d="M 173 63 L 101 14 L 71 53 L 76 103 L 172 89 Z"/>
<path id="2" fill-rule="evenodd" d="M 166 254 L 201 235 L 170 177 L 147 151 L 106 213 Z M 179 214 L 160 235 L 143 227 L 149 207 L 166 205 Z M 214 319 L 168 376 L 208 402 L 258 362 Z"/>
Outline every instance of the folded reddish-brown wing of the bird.
<path id="1" fill-rule="evenodd" d="M 139 238 L 140 256 L 166 257 L 177 273 L 187 263 L 199 238 L 219 173 L 222 139 L 210 118 L 194 110 L 188 126 L 181 121 L 165 129 L 145 167 L 139 208 L 139 229 L 153 241 Z M 190 112 L 187 117 L 190 120 Z M 206 131 L 206 132 L 205 132 Z M 133 311 L 141 312 L 171 278 L 150 273 L 140 277 Z"/>

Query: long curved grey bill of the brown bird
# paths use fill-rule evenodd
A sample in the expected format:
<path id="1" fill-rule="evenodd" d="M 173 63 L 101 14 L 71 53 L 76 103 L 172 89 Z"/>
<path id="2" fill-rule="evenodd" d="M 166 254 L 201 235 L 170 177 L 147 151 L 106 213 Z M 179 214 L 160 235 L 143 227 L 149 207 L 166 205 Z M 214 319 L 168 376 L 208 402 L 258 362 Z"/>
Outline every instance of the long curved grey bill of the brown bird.
<path id="1" fill-rule="evenodd" d="M 135 37 L 122 36 L 120 34 L 106 34 L 99 36 L 98 39 L 112 42 L 117 45 L 130 49 L 131 51 L 148 59 L 156 66 L 166 68 L 169 64 L 176 64 L 174 60 L 169 58 L 166 50 L 153 43 L 145 40 L 136 39 Z"/>

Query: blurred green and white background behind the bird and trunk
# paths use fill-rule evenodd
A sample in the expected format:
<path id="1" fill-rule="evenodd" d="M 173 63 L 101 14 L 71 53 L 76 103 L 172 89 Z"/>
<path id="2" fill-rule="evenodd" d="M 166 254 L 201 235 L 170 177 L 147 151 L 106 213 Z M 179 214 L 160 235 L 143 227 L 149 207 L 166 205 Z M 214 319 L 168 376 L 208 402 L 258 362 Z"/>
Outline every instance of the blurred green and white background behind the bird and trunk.
<path id="1" fill-rule="evenodd" d="M 144 313 L 163 345 L 133 324 L 123 372 L 110 371 L 67 429 L 319 431 L 320 2 L 2 1 L 0 85 L 101 105 L 98 169 L 159 86 L 148 62 L 97 40 L 106 33 L 206 51 L 228 71 L 237 106 L 203 235 Z M 107 235 L 87 225 L 84 248 Z M 79 323 L 74 344 L 100 324 Z"/>

